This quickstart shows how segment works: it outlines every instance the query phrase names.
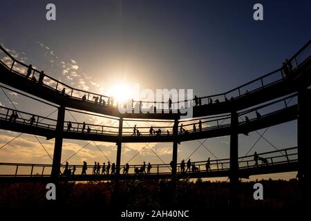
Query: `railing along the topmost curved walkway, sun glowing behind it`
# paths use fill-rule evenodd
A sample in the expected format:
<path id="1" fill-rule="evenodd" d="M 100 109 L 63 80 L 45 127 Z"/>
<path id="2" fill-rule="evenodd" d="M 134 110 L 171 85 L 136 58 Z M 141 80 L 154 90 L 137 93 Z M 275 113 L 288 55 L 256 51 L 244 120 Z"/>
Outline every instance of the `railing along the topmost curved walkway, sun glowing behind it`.
<path id="1" fill-rule="evenodd" d="M 35 68 L 29 68 L 28 65 L 24 64 L 21 61 L 12 57 L 10 53 L 0 46 L 0 62 L 3 66 L 6 66 L 9 70 L 16 73 L 17 75 L 21 75 L 23 77 L 27 77 L 30 81 L 33 79 L 39 79 L 41 71 Z M 311 58 L 311 40 L 308 41 L 305 46 L 303 46 L 296 54 L 288 60 L 288 64 L 279 68 L 277 70 L 264 75 L 263 77 L 259 77 L 254 79 L 253 81 L 249 81 L 246 84 L 238 86 L 232 90 L 227 91 L 226 93 L 220 93 L 217 95 L 210 95 L 205 97 L 200 97 L 201 104 L 216 104 L 218 102 L 229 102 L 230 99 L 237 99 L 241 97 L 245 97 L 251 93 L 254 93 L 258 90 L 266 88 L 267 86 L 271 86 L 272 84 L 277 84 L 280 81 L 284 81 L 288 75 L 294 73 L 294 71 L 299 68 L 299 66 L 303 65 L 306 61 Z M 28 73 L 29 70 L 29 73 Z M 35 78 L 34 78 L 35 77 Z M 44 74 L 44 79 L 41 83 L 42 86 L 55 90 L 55 92 L 66 95 L 73 99 L 84 100 L 85 102 L 91 102 L 93 104 L 102 105 L 104 107 L 117 105 L 117 102 L 113 102 L 113 97 L 108 97 L 106 95 L 100 95 L 98 93 L 91 93 L 86 90 L 79 90 L 68 86 L 67 84 L 54 79 L 48 75 Z M 196 99 L 173 102 L 172 110 L 177 111 L 180 109 L 180 104 L 182 106 L 196 106 Z M 140 102 L 133 101 L 130 102 L 130 106 L 134 108 L 135 106 L 141 106 L 139 110 L 143 110 L 148 112 L 153 106 L 156 106 L 158 110 L 162 112 L 167 111 L 169 113 L 169 104 L 167 101 L 165 102 Z M 153 109 L 153 108 L 152 108 Z M 177 112 L 176 112 L 177 113 Z"/>

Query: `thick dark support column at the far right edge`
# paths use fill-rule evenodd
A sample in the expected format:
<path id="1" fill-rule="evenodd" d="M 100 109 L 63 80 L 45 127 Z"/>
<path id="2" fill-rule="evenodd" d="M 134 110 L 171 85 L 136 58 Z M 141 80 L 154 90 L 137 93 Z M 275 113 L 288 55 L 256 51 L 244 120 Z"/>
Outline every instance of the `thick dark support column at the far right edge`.
<path id="1" fill-rule="evenodd" d="M 310 171 L 310 126 L 311 126 L 311 90 L 303 89 L 298 93 L 298 179 L 299 203 L 310 204 L 311 197 L 311 171 Z"/>

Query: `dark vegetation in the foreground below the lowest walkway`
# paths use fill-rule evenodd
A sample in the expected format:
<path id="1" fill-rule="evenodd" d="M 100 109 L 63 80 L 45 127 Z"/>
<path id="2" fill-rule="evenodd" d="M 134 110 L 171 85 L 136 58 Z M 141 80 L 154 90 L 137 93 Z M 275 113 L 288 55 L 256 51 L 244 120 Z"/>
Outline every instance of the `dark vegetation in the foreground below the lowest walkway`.
<path id="1" fill-rule="evenodd" d="M 261 180 L 264 200 L 254 200 L 254 182 L 241 182 L 239 207 L 289 208 L 298 204 L 297 180 Z M 208 209 L 224 207 L 229 199 L 229 182 L 178 181 L 177 188 L 168 180 L 120 182 L 87 182 L 59 184 L 57 200 L 46 200 L 46 184 L 0 184 L 0 207 L 3 208 L 66 208 L 109 209 Z M 118 194 L 116 194 L 118 192 Z"/>

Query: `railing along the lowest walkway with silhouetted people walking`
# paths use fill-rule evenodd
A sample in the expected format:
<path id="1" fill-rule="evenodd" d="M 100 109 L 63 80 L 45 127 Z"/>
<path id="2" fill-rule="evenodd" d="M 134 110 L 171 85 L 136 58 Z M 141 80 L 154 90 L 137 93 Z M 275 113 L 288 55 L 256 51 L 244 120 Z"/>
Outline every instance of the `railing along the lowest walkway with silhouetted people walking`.
<path id="1" fill-rule="evenodd" d="M 264 166 L 275 166 L 275 165 L 285 165 L 292 162 L 298 162 L 298 148 L 285 148 L 279 151 L 270 151 L 265 153 L 258 153 L 258 165 L 255 164 L 254 155 L 247 155 L 245 157 L 238 157 L 239 169 L 256 169 L 264 168 Z M 214 171 L 229 171 L 229 159 L 221 160 L 210 160 L 210 168 L 207 171 L 206 164 L 207 161 L 191 162 L 191 168 L 187 170 L 187 162 L 185 162 L 185 173 L 210 173 Z M 75 166 L 75 176 L 82 174 L 82 165 L 71 165 L 69 164 L 68 169 L 70 173 L 73 172 L 73 167 Z M 105 164 L 107 168 L 107 162 Z M 150 174 L 151 175 L 161 175 L 161 174 L 171 174 L 171 166 L 169 164 L 152 164 Z M 181 173 L 180 164 L 178 166 L 178 173 Z M 193 168 L 193 166 L 195 166 Z M 94 165 L 88 164 L 88 169 L 86 170 L 86 175 L 97 175 L 105 176 L 106 171 L 102 173 L 102 163 L 100 164 L 100 173 L 93 174 Z M 121 166 L 121 175 L 138 175 L 147 174 L 148 164 L 145 166 L 144 172 L 140 171 L 142 164 L 129 165 L 129 173 L 123 174 L 123 169 L 125 165 Z M 0 177 L 48 177 L 52 169 L 51 164 L 21 164 L 21 163 L 0 163 Z M 64 173 L 65 165 L 61 166 L 61 173 Z M 140 172 L 138 172 L 140 171 Z M 111 174 L 111 168 L 109 170 Z M 64 175 L 64 174 L 63 174 Z M 72 174 L 71 174 L 72 175 Z M 112 174 L 113 175 L 113 174 Z"/>

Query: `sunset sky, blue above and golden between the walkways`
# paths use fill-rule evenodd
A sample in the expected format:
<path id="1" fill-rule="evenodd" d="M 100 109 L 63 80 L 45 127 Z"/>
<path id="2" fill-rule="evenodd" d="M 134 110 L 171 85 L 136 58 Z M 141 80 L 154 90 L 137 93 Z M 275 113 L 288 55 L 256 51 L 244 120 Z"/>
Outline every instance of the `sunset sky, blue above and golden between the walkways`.
<path id="1" fill-rule="evenodd" d="M 45 7 L 52 2 L 57 8 L 57 20 L 46 21 Z M 117 81 L 129 86 L 139 83 L 142 88 L 153 90 L 193 88 L 196 95 L 223 93 L 279 68 L 284 59 L 291 57 L 311 36 L 311 2 L 302 0 L 0 0 L 0 3 L 0 44 L 57 79 L 100 93 L 106 93 Z M 263 21 L 254 21 L 254 3 L 263 4 Z M 11 96 L 18 108 L 33 111 L 27 99 Z M 0 101 L 10 106 L 3 93 Z M 42 106 L 36 111 L 47 115 L 53 109 Z M 14 133 L 1 132 L 1 143 L 14 137 Z M 30 142 L 30 137 L 24 135 L 21 139 Z M 247 152 L 257 137 L 255 133 L 241 137 L 240 155 Z M 266 137 L 279 148 L 294 146 L 296 122 L 275 126 Z M 207 144 L 221 158 L 229 155 L 228 141 L 228 137 L 221 137 L 208 140 Z M 72 148 L 84 143 L 68 141 L 66 145 Z M 44 153 L 36 157 L 37 152 L 28 145 L 35 144 L 13 142 L 0 151 L 0 161 L 48 162 L 48 158 L 42 158 Z M 46 145 L 53 153 L 53 142 Z M 114 161 L 115 153 L 111 151 L 114 144 L 100 145 Z M 171 144 L 153 145 L 156 149 L 171 148 Z M 134 150 L 142 146 L 136 145 Z M 178 160 L 187 157 L 196 146 L 198 142 L 182 144 Z M 13 157 L 17 152 L 14 148 L 23 150 L 25 155 Z M 255 150 L 273 149 L 267 142 L 260 141 Z M 82 158 L 91 162 L 104 160 L 94 146 L 84 152 L 77 155 L 74 162 L 81 162 Z M 169 162 L 171 156 L 162 152 L 164 161 Z M 65 151 L 64 158 L 66 154 L 70 155 Z M 135 154 L 132 149 L 128 158 L 131 154 Z M 205 160 L 208 154 L 200 148 L 194 158 Z M 146 157 L 160 163 L 152 153 L 138 156 L 136 162 Z M 123 159 L 126 160 L 126 156 Z"/>

